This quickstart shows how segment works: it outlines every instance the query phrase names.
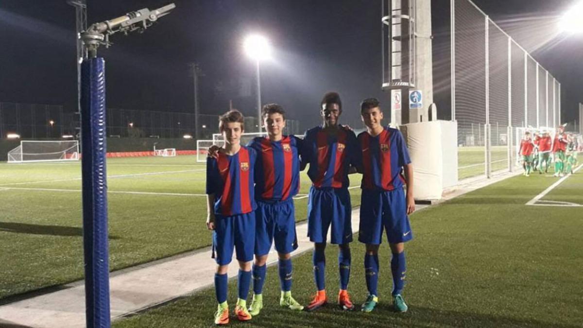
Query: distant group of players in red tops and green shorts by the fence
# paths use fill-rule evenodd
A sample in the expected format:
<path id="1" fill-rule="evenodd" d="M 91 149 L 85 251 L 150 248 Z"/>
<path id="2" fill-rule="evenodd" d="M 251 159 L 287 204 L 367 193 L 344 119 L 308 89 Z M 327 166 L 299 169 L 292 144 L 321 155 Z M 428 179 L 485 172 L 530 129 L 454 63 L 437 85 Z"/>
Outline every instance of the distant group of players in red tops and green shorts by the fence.
<path id="1" fill-rule="evenodd" d="M 581 135 L 566 134 L 563 125 L 560 125 L 554 138 L 547 130 L 534 132 L 533 135 L 529 131 L 524 132 L 518 155 L 521 156 L 525 176 L 530 176 L 533 171 L 549 173 L 551 161 L 554 162 L 553 176 L 564 176 L 573 173 L 580 151 L 583 151 Z"/>

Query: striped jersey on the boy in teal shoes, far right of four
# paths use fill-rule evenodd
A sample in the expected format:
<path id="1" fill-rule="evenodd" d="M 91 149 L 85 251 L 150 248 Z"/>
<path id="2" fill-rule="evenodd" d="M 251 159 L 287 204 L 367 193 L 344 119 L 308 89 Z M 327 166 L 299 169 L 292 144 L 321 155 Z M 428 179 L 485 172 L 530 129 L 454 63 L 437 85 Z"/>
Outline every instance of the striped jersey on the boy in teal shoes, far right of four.
<path id="1" fill-rule="evenodd" d="M 394 190 L 403 187 L 403 166 L 409 164 L 409 151 L 401 131 L 385 127 L 373 137 L 364 131 L 359 134 L 362 152 L 362 189 Z"/>

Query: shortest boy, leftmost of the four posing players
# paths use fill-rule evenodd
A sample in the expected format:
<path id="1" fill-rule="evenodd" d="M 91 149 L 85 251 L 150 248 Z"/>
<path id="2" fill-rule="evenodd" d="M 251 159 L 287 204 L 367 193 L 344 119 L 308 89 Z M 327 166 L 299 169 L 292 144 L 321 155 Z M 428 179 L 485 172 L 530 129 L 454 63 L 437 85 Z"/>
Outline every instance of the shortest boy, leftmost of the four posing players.
<path id="1" fill-rule="evenodd" d="M 251 320 L 247 295 L 251 282 L 251 261 L 255 243 L 254 167 L 257 153 L 241 146 L 243 115 L 228 111 L 219 119 L 224 149 L 218 158 L 206 161 L 206 194 L 208 218 L 206 226 L 213 230 L 213 254 L 216 250 L 215 293 L 219 306 L 215 324 L 229 323 L 227 305 L 227 269 L 237 250 L 239 262 L 238 299 L 235 315 L 241 321 Z"/>

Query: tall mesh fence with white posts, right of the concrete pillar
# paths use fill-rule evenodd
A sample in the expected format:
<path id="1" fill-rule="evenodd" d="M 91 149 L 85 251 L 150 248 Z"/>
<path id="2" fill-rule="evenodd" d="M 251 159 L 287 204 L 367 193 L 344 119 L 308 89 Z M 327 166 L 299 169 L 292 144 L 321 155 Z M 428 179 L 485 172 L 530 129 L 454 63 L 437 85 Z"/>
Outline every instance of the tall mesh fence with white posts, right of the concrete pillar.
<path id="1" fill-rule="evenodd" d="M 560 124 L 560 83 L 470 0 L 451 0 L 459 179 L 512 170 L 515 129 Z"/>

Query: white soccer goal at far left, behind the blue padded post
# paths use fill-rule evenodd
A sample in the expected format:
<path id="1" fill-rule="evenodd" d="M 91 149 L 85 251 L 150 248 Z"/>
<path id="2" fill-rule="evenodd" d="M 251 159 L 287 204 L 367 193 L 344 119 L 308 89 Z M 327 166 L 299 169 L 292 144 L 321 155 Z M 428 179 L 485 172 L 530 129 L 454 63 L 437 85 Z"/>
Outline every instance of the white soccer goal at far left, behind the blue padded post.
<path id="1" fill-rule="evenodd" d="M 20 141 L 8 152 L 9 163 L 79 160 L 79 141 Z"/>

